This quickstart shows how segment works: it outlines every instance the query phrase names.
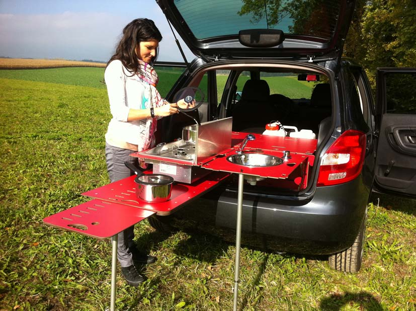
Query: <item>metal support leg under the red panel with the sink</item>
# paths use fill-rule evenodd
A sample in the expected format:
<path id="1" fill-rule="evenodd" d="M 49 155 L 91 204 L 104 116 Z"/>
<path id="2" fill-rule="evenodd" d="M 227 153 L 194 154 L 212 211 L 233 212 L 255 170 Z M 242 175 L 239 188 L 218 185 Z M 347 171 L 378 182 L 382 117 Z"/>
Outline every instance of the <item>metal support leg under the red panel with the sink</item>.
<path id="1" fill-rule="evenodd" d="M 244 186 L 244 175 L 238 175 L 238 196 L 237 196 L 237 226 L 235 237 L 235 264 L 234 264 L 234 300 L 233 311 L 237 311 L 238 304 L 238 283 L 240 275 L 240 250 L 241 250 L 241 214 L 242 214 L 242 193 Z"/>

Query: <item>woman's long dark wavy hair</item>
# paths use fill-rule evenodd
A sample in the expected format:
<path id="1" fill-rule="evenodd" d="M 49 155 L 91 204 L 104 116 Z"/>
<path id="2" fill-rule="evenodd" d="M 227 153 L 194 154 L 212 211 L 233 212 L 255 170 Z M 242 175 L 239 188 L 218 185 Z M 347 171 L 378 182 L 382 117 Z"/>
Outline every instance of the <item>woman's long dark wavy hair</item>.
<path id="1" fill-rule="evenodd" d="M 152 20 L 146 18 L 138 18 L 131 21 L 123 29 L 123 37 L 117 45 L 116 52 L 111 56 L 108 64 L 115 59 L 119 59 L 122 64 L 134 74 L 139 70 L 139 62 L 137 61 L 136 47 L 142 41 L 162 40 L 162 35 Z M 157 52 L 154 60 L 157 58 Z M 154 61 L 153 60 L 153 61 Z"/>

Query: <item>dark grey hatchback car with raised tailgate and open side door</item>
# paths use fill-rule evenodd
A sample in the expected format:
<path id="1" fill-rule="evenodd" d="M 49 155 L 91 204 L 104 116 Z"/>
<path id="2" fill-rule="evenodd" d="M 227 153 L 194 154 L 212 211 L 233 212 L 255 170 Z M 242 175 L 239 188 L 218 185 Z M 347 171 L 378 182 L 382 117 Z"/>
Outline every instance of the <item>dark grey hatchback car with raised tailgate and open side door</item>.
<path id="1" fill-rule="evenodd" d="M 232 117 L 234 132 L 261 135 L 274 120 L 286 138 L 314 143 L 302 183 L 247 180 L 245 236 L 282 252 L 327 255 L 330 267 L 357 272 L 371 192 L 416 195 L 416 68 L 380 68 L 373 100 L 362 67 L 342 57 L 354 1 L 157 3 L 196 55 L 167 100 L 199 88 L 206 98 L 197 98 L 202 106 L 193 117 L 200 122 Z M 194 124 L 184 115 L 160 121 L 160 141 Z M 175 219 L 235 229 L 236 178 L 205 198 L 212 204 L 149 222 L 156 229 Z"/>

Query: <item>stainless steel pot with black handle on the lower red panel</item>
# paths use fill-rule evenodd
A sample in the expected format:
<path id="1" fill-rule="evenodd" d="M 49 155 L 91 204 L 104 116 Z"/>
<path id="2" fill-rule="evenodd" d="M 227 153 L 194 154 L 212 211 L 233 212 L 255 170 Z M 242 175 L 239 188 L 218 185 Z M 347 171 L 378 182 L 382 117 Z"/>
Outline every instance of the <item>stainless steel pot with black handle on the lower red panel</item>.
<path id="1" fill-rule="evenodd" d="M 125 166 L 132 170 L 137 176 L 136 197 L 139 200 L 149 203 L 160 203 L 168 201 L 172 195 L 174 179 L 163 174 L 142 174 L 138 168 L 129 162 L 124 162 Z"/>

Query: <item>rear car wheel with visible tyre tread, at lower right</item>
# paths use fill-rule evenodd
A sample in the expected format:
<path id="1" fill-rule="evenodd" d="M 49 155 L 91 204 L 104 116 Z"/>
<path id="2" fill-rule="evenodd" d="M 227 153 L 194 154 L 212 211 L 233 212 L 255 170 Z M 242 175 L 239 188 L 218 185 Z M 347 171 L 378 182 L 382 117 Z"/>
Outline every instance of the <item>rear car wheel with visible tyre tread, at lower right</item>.
<path id="1" fill-rule="evenodd" d="M 367 219 L 364 217 L 363 222 L 355 238 L 354 244 L 341 253 L 329 256 L 329 267 L 343 272 L 358 272 L 361 268 L 363 260 L 364 239 L 365 239 L 365 223 Z"/>

